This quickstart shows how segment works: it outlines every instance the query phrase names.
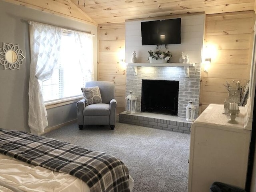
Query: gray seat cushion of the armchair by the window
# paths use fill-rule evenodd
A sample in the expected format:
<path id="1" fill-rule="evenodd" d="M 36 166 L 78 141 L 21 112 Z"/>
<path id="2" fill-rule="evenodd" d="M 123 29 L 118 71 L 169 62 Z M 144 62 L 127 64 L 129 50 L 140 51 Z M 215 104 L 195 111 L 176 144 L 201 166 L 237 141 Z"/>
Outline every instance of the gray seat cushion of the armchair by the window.
<path id="1" fill-rule="evenodd" d="M 96 103 L 96 104 L 91 104 L 88 105 L 84 108 L 84 116 L 85 115 L 97 115 L 97 116 L 105 116 L 109 115 L 109 104 L 106 103 Z"/>

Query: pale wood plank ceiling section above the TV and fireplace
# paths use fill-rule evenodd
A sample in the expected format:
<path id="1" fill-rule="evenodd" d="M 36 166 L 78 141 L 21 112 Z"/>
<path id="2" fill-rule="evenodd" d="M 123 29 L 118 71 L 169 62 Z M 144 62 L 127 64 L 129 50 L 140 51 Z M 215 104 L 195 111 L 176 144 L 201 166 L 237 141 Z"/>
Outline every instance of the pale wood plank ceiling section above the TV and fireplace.
<path id="1" fill-rule="evenodd" d="M 71 0 L 98 24 L 129 19 L 205 12 L 254 10 L 255 0 Z M 79 5 L 78 5 L 79 2 Z"/>

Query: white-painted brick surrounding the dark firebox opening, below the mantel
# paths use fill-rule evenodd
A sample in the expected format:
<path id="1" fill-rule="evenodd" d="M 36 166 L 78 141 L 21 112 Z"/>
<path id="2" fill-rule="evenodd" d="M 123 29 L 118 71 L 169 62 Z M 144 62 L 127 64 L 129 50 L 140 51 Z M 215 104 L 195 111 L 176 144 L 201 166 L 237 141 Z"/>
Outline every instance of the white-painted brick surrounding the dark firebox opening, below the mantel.
<path id="1" fill-rule="evenodd" d="M 200 91 L 200 76 L 194 75 L 193 78 L 183 78 L 184 68 L 174 67 L 175 70 L 170 70 L 170 68 L 165 67 L 151 67 L 152 71 L 150 73 L 142 73 L 142 67 L 138 67 L 138 74 L 134 76 L 132 70 L 133 67 L 128 66 L 127 79 L 126 79 L 126 95 L 129 94 L 130 90 L 133 90 L 134 96 L 137 97 L 136 111 L 140 112 L 141 108 L 141 84 L 142 79 L 152 79 L 152 80 L 179 80 L 179 102 L 178 102 L 178 116 L 186 117 L 186 105 L 188 101 L 193 101 L 199 105 L 199 91 Z M 174 69 L 171 68 L 171 69 Z M 129 71 L 132 71 L 129 73 Z M 175 74 L 176 73 L 176 74 Z M 182 78 L 180 78 L 182 77 Z M 196 79 L 198 78 L 198 79 Z M 191 82 L 192 80 L 192 82 Z M 194 104 L 194 105 L 195 105 Z M 197 115 L 197 114 L 196 114 Z"/>

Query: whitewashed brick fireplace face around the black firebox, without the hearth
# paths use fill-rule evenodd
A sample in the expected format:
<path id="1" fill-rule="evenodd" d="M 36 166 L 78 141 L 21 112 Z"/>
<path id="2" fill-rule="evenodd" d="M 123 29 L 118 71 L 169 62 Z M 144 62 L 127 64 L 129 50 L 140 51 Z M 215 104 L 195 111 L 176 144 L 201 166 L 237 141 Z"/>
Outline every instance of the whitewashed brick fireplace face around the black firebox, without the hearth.
<path id="1" fill-rule="evenodd" d="M 171 66 L 172 64 L 170 64 Z M 141 112 L 142 97 L 142 79 L 148 80 L 170 80 L 179 81 L 178 91 L 178 117 L 186 118 L 186 106 L 192 101 L 196 107 L 196 115 L 198 116 L 199 93 L 200 93 L 200 64 L 190 67 L 189 77 L 185 76 L 183 67 L 137 67 L 127 66 L 126 74 L 126 95 L 133 91 L 137 98 L 136 112 Z M 166 87 L 168 89 L 168 87 Z M 161 99 L 161 98 L 159 98 Z"/>

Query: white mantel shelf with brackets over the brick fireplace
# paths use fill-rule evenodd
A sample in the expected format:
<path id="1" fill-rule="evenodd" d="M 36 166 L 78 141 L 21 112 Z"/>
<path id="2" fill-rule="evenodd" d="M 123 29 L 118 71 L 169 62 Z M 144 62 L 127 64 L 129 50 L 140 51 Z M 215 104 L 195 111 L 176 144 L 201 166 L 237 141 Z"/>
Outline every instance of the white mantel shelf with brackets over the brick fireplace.
<path id="1" fill-rule="evenodd" d="M 195 63 L 128 63 L 128 66 L 134 66 L 137 74 L 137 66 L 140 67 L 184 67 L 185 76 L 189 77 L 189 67 L 195 66 Z"/>

